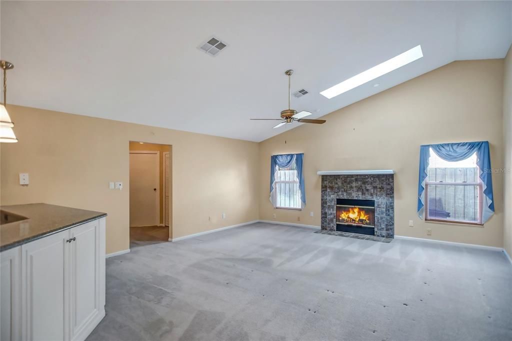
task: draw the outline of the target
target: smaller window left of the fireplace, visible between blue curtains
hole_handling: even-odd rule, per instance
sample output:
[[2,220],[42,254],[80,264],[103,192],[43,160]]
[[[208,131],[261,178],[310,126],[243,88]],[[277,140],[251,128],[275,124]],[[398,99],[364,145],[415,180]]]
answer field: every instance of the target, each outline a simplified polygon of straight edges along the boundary
[[288,168],[275,166],[275,207],[302,209],[301,189],[295,161]]

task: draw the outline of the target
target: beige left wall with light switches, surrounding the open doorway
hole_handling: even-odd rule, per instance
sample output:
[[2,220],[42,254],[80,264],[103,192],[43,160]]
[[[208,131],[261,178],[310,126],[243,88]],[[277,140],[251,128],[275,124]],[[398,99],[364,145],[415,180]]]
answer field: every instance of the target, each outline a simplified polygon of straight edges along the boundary
[[[258,219],[258,143],[23,106],[8,110],[19,142],[1,144],[2,205],[46,202],[107,212],[107,253],[129,248],[129,141],[173,146],[173,238]],[[28,187],[18,184],[22,172],[30,175]],[[122,181],[123,190],[109,189],[109,181]]]

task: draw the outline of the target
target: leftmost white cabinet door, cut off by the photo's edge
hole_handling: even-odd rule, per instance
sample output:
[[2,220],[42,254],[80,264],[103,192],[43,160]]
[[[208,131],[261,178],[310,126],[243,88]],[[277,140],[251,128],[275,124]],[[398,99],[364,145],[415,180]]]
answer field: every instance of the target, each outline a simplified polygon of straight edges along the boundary
[[0,340],[19,340],[21,335],[22,247],[0,253]]

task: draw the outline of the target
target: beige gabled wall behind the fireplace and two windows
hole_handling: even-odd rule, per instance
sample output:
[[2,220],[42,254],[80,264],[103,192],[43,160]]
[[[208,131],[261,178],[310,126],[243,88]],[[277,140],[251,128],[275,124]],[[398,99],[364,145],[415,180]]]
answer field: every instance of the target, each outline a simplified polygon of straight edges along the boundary
[[[502,115],[503,59],[456,61],[326,115],[323,125],[305,124],[265,140],[260,219],[319,226],[317,171],[394,169],[396,235],[502,247],[502,174],[493,176],[496,214],[484,227],[426,223],[416,215],[420,144],[488,140],[493,167],[502,167]],[[268,199],[270,156],[285,153],[304,153],[303,211],[274,209]]]

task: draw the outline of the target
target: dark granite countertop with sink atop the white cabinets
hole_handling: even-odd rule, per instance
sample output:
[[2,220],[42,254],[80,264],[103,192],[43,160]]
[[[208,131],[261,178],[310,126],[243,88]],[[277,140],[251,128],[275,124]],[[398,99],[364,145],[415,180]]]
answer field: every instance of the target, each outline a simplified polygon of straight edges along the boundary
[[5,213],[28,219],[0,225],[0,251],[32,242],[53,233],[106,217],[106,213],[49,204],[0,206]]

